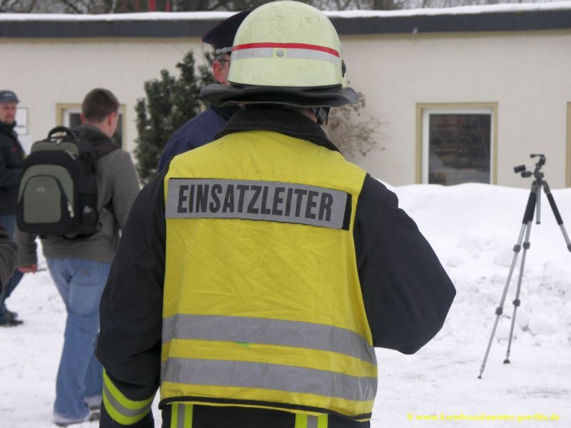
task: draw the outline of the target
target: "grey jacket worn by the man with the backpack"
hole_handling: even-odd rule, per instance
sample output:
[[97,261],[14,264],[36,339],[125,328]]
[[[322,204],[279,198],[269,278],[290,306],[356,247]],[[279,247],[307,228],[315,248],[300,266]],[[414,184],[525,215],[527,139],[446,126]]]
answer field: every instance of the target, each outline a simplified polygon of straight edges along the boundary
[[[76,128],[89,141],[108,139],[98,128],[82,125]],[[114,150],[97,161],[97,207],[99,230],[87,238],[43,238],[46,258],[79,258],[110,263],[119,240],[119,230],[127,220],[131,205],[139,191],[135,166],[129,153]],[[37,263],[36,236],[16,230],[18,267]]]

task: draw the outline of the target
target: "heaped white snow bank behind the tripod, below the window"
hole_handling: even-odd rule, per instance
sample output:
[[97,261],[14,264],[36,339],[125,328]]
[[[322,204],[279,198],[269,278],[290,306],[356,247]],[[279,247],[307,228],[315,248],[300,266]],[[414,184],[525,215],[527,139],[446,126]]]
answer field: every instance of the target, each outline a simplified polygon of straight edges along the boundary
[[[477,330],[475,334],[482,340],[490,333],[486,326],[500,305],[530,191],[482,184],[420,187],[425,190],[419,191],[415,185],[396,191],[400,204],[417,221],[458,287],[454,309],[461,307],[462,313],[453,311],[451,315],[461,318],[449,322],[445,332],[456,340],[473,340],[473,330]],[[553,195],[563,221],[567,217],[571,222],[571,189],[554,190]],[[537,215],[531,227],[520,292],[522,305],[514,334],[532,345],[550,342],[568,346],[571,253],[545,195],[540,206],[541,224],[535,220]],[[523,250],[517,255],[507,290],[497,329],[499,339],[509,335],[522,255]],[[474,327],[478,328],[466,330],[468,322],[477,323]]]

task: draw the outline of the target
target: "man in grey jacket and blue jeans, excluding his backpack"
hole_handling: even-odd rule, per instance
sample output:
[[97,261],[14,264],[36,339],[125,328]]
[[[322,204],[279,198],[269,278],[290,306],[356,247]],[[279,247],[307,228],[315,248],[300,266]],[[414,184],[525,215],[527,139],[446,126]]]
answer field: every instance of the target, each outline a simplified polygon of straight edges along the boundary
[[[56,230],[53,234],[44,231],[40,235],[51,277],[67,310],[54,404],[54,422],[60,426],[96,419],[98,413],[94,410],[101,405],[102,369],[94,356],[99,300],[118,243],[118,230],[123,229],[139,190],[131,157],[111,140],[117,128],[118,107],[113,93],[94,89],[86,95],[81,106],[83,124],[73,130],[79,141],[87,141],[95,149],[98,212],[95,233],[70,238],[69,235],[59,236]],[[29,158],[32,156],[35,156],[34,148]],[[41,159],[36,159],[35,164],[39,163]],[[25,180],[26,171],[21,187]],[[21,195],[24,192],[22,188]],[[84,206],[84,212],[87,208]],[[25,206],[22,212],[26,213]],[[25,215],[19,213],[18,266],[21,272],[36,272],[36,235],[21,232],[25,220]]]

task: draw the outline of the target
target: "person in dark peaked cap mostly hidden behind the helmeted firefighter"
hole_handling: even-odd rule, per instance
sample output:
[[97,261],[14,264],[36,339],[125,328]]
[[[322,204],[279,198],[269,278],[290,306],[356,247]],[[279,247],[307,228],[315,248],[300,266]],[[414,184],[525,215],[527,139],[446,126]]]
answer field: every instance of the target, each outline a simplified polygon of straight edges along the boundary
[[[228,70],[230,69],[230,54],[232,42],[238,26],[250,13],[241,11],[222,21],[206,33],[202,41],[214,48],[214,60],[211,70],[218,83],[228,85]],[[173,133],[168,139],[161,158],[158,160],[157,171],[161,171],[180,153],[192,150],[210,143],[214,136],[231,116],[240,110],[238,106],[209,106],[206,111],[198,113]]]

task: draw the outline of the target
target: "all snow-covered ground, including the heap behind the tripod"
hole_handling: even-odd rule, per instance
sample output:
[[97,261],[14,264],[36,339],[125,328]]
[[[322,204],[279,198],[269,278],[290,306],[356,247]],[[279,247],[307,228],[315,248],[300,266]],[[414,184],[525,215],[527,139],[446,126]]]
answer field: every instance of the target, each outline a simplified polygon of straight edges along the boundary
[[[443,330],[417,354],[378,350],[371,427],[571,427],[571,253],[545,195],[542,224],[531,228],[511,364],[502,361],[519,264],[483,379],[477,379],[529,190],[481,184],[393,190],[433,244],[458,295]],[[571,188],[553,195],[571,233]],[[26,275],[8,303],[25,323],[0,329],[0,427],[54,427],[64,305],[47,271]],[[160,426],[156,403],[153,411]]]

